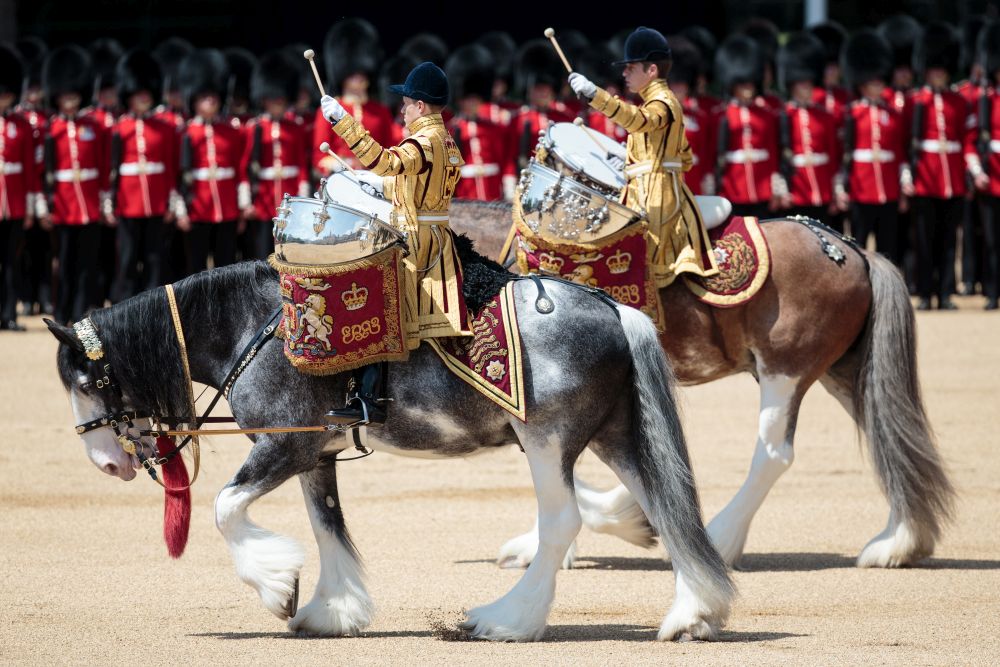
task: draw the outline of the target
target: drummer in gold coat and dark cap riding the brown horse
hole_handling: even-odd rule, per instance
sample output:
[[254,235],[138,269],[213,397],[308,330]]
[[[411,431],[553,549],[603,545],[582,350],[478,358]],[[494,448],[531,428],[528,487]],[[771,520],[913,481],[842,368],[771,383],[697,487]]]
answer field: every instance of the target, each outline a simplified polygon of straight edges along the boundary
[[666,82],[671,64],[667,39],[642,27],[629,35],[625,57],[615,63],[624,65],[626,86],[642,97],[640,106],[612,96],[582,74],[569,76],[575,93],[629,132],[621,200],[648,219],[655,244],[652,275],[661,288],[681,273],[708,277],[719,272],[698,206],[681,175],[691,169],[693,158],[683,108]]

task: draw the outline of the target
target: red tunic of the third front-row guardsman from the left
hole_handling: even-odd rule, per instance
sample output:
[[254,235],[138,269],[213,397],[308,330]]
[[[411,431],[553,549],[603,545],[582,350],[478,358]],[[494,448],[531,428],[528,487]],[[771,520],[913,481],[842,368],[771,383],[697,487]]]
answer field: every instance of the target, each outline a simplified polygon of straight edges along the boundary
[[111,128],[121,145],[116,210],[122,218],[162,217],[177,182],[180,135],[161,116],[126,114]]

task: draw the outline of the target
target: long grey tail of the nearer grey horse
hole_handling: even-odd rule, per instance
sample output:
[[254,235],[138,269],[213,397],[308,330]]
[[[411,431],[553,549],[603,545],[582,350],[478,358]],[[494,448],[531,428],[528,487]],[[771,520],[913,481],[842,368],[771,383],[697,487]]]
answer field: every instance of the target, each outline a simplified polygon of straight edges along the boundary
[[652,321],[633,308],[619,306],[618,312],[632,358],[632,433],[649,521],[670,553],[674,572],[725,621],[736,589],[702,521],[673,370]]

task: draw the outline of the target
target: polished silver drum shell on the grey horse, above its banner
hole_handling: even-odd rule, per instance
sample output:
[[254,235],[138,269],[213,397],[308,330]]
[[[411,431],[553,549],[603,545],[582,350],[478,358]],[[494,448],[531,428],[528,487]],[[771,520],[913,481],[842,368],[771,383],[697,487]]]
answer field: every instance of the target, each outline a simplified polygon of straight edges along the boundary
[[275,256],[290,264],[353,262],[405,239],[370,213],[311,197],[285,195],[273,222]]

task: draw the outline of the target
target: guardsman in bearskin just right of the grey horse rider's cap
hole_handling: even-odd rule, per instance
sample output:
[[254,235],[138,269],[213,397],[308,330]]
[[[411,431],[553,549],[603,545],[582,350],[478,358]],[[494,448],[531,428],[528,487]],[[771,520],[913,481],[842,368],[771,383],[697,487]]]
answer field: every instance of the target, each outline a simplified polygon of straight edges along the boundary
[[465,158],[455,197],[510,200],[517,179],[507,141],[509,128],[480,115],[496,78],[493,57],[478,44],[463,46],[449,56],[445,72],[458,110],[448,122],[448,131]]

